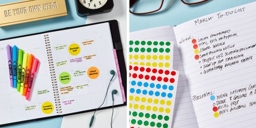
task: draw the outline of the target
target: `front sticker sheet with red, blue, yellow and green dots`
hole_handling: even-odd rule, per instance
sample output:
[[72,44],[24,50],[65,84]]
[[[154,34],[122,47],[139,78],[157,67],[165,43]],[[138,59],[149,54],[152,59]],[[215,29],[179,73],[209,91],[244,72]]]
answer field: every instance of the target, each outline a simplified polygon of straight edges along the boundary
[[130,127],[169,128],[179,71],[130,64]]

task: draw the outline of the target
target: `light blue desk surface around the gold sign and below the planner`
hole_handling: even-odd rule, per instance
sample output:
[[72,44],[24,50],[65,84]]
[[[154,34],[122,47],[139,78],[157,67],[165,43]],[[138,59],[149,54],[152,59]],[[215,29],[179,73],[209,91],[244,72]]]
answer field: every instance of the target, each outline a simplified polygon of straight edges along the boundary
[[[21,0],[0,0],[0,4],[12,3],[17,1]],[[76,14],[75,0],[65,1],[68,13],[67,16],[0,27],[0,39],[85,24],[86,17],[79,17]],[[61,128],[61,121],[62,117],[37,122],[30,122],[20,125],[13,125],[4,128]]]

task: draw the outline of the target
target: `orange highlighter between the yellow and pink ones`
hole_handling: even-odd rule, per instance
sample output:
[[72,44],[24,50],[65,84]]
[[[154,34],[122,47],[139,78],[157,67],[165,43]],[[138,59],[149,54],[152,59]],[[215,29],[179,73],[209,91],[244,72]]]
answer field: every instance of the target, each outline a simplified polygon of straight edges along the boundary
[[28,84],[29,84],[29,75],[30,75],[30,70],[32,67],[34,61],[34,55],[30,54],[29,59],[27,61],[27,70],[26,70],[26,76],[25,76],[25,82],[24,82],[24,89],[23,89],[23,96],[26,96],[26,92],[28,90]]

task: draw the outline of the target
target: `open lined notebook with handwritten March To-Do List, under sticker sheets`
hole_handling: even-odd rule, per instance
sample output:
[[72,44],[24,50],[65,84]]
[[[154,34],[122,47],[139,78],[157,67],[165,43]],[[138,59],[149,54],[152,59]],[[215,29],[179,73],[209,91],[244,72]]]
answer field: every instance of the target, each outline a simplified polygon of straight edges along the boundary
[[173,41],[180,71],[173,128],[255,128],[256,2],[175,27],[130,33],[132,41]]

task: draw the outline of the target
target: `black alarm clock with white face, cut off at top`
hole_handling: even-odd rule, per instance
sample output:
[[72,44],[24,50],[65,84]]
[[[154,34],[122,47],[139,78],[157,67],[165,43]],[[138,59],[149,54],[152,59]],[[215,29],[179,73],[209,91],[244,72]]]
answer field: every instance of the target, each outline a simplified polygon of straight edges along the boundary
[[111,12],[113,0],[75,0],[76,12],[80,17]]

